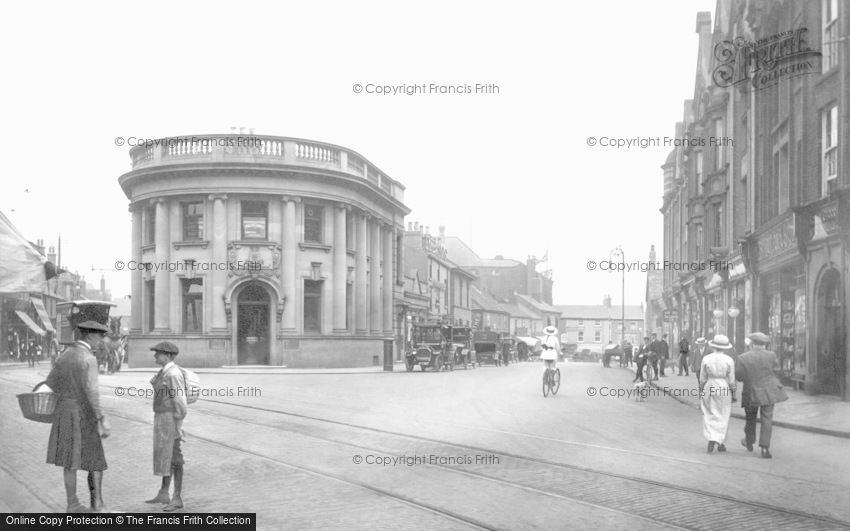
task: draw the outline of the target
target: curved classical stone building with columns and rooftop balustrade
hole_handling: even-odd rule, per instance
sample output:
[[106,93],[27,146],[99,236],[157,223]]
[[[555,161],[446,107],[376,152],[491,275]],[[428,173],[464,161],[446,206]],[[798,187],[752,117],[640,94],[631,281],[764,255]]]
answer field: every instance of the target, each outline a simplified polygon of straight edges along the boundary
[[201,135],[130,150],[130,363],[373,365],[397,336],[404,187],[349,149]]

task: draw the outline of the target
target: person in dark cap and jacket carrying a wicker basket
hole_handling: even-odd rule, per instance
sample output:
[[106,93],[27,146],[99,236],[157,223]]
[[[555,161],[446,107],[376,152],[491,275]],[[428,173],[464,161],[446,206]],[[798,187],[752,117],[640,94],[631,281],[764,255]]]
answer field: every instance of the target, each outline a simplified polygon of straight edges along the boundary
[[92,351],[109,331],[106,325],[85,321],[77,325],[77,340],[59,356],[47,385],[59,401],[47,444],[47,463],[64,469],[66,511],[88,512],[77,498],[77,471],[88,471],[91,512],[104,512],[103,471],[106,456],[101,439],[110,428],[100,408],[97,360]]

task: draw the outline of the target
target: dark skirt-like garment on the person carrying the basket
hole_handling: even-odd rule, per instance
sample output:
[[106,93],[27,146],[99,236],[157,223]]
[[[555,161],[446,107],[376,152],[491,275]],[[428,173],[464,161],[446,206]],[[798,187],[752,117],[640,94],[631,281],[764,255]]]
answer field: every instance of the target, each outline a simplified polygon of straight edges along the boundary
[[106,470],[97,420],[85,414],[76,400],[60,400],[56,406],[47,463],[71,470]]

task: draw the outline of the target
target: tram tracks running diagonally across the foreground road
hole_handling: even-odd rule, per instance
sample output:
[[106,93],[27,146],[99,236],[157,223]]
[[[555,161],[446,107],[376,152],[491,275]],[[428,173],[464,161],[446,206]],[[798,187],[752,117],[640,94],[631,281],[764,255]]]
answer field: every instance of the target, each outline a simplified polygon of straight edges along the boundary
[[[21,385],[24,384],[21,383]],[[244,414],[239,415],[235,412],[233,414],[228,414],[220,410],[204,411],[203,404],[215,405],[217,407],[226,406],[229,408],[235,408],[236,411],[252,410],[256,412],[256,414],[266,415],[267,418],[263,419],[263,422],[259,422],[257,420],[247,419]],[[198,407],[199,405],[201,405],[201,407]],[[133,422],[142,422],[147,425],[151,424],[149,420],[135,416],[128,416],[121,411],[116,411],[113,407],[106,407],[106,409],[112,415],[125,418]],[[850,529],[850,524],[848,522],[840,521],[831,517],[785,509],[754,501],[740,500],[723,494],[706,492],[699,489],[630,476],[627,474],[594,470],[568,463],[560,463],[547,459],[518,455],[502,450],[485,448],[483,446],[462,444],[437,438],[411,435],[408,433],[399,433],[301,413],[244,404],[234,404],[227,401],[205,398],[193,406],[193,415],[196,414],[215,418],[224,418],[230,421],[254,426],[256,428],[277,430],[287,434],[295,434],[301,437],[308,437],[336,445],[356,448],[358,451],[369,451],[382,455],[396,455],[398,449],[393,448],[392,443],[398,443],[399,441],[410,443],[407,445],[408,447],[424,445],[417,451],[427,451],[432,454],[451,454],[455,450],[461,450],[496,455],[506,460],[515,461],[521,466],[519,469],[511,469],[513,474],[512,477],[500,477],[499,474],[494,474],[494,470],[492,469],[460,469],[456,466],[444,466],[440,464],[426,466],[492,483],[498,483],[514,489],[521,489],[535,494],[546,495],[573,503],[587,505],[596,509],[628,514],[630,517],[638,520],[652,522],[654,524],[660,524],[672,528],[735,529],[741,525],[747,525],[748,528],[752,529]],[[282,425],[277,419],[284,417],[288,418],[289,421]],[[292,419],[301,422],[302,425],[296,425],[296,423],[292,422]],[[333,427],[335,435],[334,433],[331,433],[330,430],[316,430],[315,426],[305,426],[304,423],[314,423],[326,427]],[[215,444],[228,450],[248,454],[255,458],[269,460],[284,466],[316,474],[327,479],[357,486],[381,496],[386,496],[412,505],[420,508],[421,510],[439,514],[458,523],[463,523],[480,529],[490,528],[486,522],[483,522],[480,519],[470,518],[457,511],[446,511],[444,507],[423,503],[421,500],[413,500],[404,494],[400,494],[398,492],[394,493],[375,485],[352,480],[350,477],[343,477],[340,474],[328,474],[327,472],[287,462],[260,452],[252,451],[229,443],[223,443],[209,437],[198,436],[194,433],[191,435],[193,438],[209,444]],[[365,441],[358,441],[357,437],[365,439]],[[375,438],[390,438],[393,439],[393,441],[375,441]],[[432,447],[429,445],[436,446]],[[498,471],[500,468],[501,467],[497,467],[496,470]],[[553,472],[555,471],[563,477],[560,481],[553,483],[551,478],[545,478],[547,471],[550,476],[557,475]],[[519,474],[517,474],[517,472],[519,472]],[[519,479],[519,481],[517,481],[517,479]],[[543,480],[542,483],[541,479]],[[575,488],[562,488],[565,483],[571,484]],[[629,494],[633,492],[637,492],[638,495],[635,496]],[[611,493],[618,494],[612,496]],[[606,496],[606,494],[608,496],[607,499],[609,500],[609,503],[605,505],[598,503],[598,498],[600,496]],[[671,503],[671,500],[674,498],[678,499],[675,503]],[[657,500],[657,502],[654,503],[654,500]],[[669,508],[670,505],[687,508],[688,510],[671,511]],[[703,507],[708,508],[711,513],[701,511],[700,509]],[[699,517],[700,514],[711,514],[712,519],[706,519],[704,516]],[[756,525],[753,525],[753,523]]]

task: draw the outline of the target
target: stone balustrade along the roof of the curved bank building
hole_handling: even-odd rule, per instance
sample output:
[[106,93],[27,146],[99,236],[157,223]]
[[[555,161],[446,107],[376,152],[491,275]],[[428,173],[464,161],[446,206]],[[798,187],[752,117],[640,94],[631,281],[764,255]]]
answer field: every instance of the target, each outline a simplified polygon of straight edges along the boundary
[[403,200],[402,188],[394,187],[395,181],[359,154],[339,146],[300,139],[235,134],[164,138],[133,147],[130,161],[134,170],[204,161],[319,166],[367,180],[382,192]]

